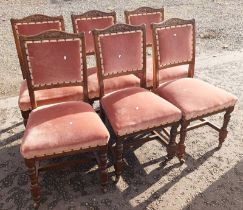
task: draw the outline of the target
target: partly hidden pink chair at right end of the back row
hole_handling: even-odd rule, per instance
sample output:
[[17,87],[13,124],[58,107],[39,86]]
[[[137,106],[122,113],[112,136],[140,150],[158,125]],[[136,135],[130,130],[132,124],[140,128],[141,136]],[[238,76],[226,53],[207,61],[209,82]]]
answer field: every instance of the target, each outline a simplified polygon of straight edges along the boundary
[[[150,8],[140,7],[132,11],[125,11],[125,19],[127,24],[140,25],[146,24],[146,43],[147,47],[151,47],[153,44],[152,39],[152,23],[160,23],[164,20],[164,8]],[[169,69],[160,72],[159,78],[160,83],[184,78],[188,76],[188,66],[181,65],[171,67]],[[147,56],[147,88],[152,89],[153,87],[153,59],[151,56]]]

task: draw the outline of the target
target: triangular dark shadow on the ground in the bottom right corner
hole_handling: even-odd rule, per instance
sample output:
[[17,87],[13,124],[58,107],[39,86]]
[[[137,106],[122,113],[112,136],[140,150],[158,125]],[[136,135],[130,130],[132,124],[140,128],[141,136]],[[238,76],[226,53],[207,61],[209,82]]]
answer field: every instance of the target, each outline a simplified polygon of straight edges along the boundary
[[243,159],[198,194],[183,210],[243,209]]

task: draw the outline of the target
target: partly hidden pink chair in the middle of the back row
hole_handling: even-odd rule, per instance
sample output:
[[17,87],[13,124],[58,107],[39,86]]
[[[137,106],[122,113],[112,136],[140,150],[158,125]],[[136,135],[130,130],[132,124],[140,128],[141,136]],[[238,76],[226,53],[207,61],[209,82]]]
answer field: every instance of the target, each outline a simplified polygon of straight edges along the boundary
[[[115,12],[102,12],[91,10],[81,15],[72,15],[74,33],[84,32],[86,40],[86,54],[95,55],[92,31],[104,29],[116,23]],[[134,75],[122,75],[119,78],[111,78],[105,81],[105,92],[118,90],[119,88],[139,86],[139,78]],[[97,78],[97,66],[88,69],[88,94],[92,101],[99,98],[99,84]]]

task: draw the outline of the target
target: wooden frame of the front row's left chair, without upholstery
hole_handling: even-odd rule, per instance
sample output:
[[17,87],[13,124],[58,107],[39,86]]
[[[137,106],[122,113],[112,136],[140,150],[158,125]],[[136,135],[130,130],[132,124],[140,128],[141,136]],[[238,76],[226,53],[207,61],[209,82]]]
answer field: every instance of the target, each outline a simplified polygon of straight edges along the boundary
[[[82,44],[82,63],[83,63],[83,81],[75,81],[75,82],[68,82],[64,81],[63,83],[55,83],[55,84],[44,84],[44,85],[33,85],[32,84],[32,77],[31,77],[31,71],[29,69],[28,65],[28,60],[27,60],[27,54],[26,54],[26,47],[25,43],[26,42],[42,42],[43,40],[74,40],[74,39],[80,39],[81,44]],[[79,34],[70,34],[62,31],[57,31],[57,30],[51,30],[47,31],[35,36],[20,36],[20,43],[21,43],[21,50],[23,53],[23,63],[26,69],[26,79],[27,79],[27,84],[29,88],[29,93],[30,93],[30,99],[31,99],[31,106],[32,109],[35,109],[37,107],[36,101],[35,101],[35,96],[34,96],[34,91],[35,90],[43,90],[43,89],[50,89],[50,88],[56,88],[56,87],[68,87],[68,86],[80,86],[83,85],[84,88],[84,101],[88,101],[87,98],[87,64],[86,64],[86,57],[85,57],[85,41],[84,41],[84,34],[79,33]],[[82,71],[82,70],[81,70]],[[82,73],[82,72],[81,72]],[[102,190],[106,191],[106,184],[108,182],[108,175],[107,175],[107,149],[108,145],[104,146],[96,146],[96,147],[89,147],[82,149],[80,148],[79,150],[71,150],[71,151],[63,151],[62,153],[54,153],[52,155],[44,155],[41,157],[34,157],[31,159],[25,159],[25,164],[28,168],[28,173],[31,181],[31,193],[32,193],[32,198],[34,200],[34,206],[37,208],[40,205],[40,190],[38,186],[38,173],[41,171],[46,171],[49,169],[57,169],[57,168],[62,168],[62,167],[69,167],[74,164],[80,164],[84,162],[88,162],[90,160],[87,159],[81,159],[81,160],[73,160],[73,161],[66,161],[63,163],[55,163],[55,164],[50,164],[47,166],[39,167],[39,162],[41,160],[45,159],[52,159],[55,157],[60,157],[60,156],[69,156],[73,154],[78,154],[78,153],[86,153],[86,152],[97,152],[99,153],[99,156],[96,156],[99,170],[100,170],[100,182],[102,185]]]

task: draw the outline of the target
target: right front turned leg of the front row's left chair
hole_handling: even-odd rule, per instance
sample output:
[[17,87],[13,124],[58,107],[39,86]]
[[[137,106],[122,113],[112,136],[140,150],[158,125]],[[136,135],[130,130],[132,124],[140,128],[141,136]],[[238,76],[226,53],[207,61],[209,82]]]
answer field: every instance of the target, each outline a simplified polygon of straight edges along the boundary
[[107,173],[107,146],[101,147],[99,150],[100,155],[100,184],[102,187],[102,191],[106,192],[106,185],[108,182],[108,173]]

